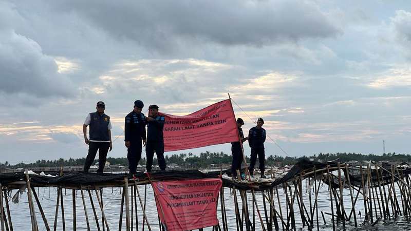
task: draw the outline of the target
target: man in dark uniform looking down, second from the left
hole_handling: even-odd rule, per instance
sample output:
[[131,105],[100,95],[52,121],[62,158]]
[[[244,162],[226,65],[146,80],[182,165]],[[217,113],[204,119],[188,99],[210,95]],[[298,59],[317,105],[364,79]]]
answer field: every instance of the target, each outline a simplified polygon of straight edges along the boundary
[[127,147],[128,168],[130,174],[137,172],[137,165],[141,159],[141,149],[145,146],[147,138],[145,137],[145,118],[141,112],[144,104],[140,100],[134,102],[134,110],[128,113],[124,123],[124,141]]

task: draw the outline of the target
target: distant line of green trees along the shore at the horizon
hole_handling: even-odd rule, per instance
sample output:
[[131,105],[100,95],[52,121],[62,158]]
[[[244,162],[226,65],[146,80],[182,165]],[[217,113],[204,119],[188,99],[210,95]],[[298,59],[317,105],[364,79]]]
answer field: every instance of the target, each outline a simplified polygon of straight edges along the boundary
[[[409,154],[396,154],[395,152],[391,153],[384,153],[383,155],[375,155],[375,154],[368,154],[363,155],[361,153],[346,153],[346,152],[337,152],[337,153],[322,153],[320,152],[318,155],[312,156],[302,156],[302,157],[282,157],[277,155],[266,155],[265,164],[266,166],[285,166],[285,165],[293,165],[297,161],[302,159],[311,159],[313,161],[331,161],[335,159],[339,159],[339,162],[346,163],[349,161],[386,161],[386,162],[411,162],[411,155]],[[60,158],[58,160],[38,160],[35,163],[18,163],[15,165],[11,165],[8,161],[1,163],[0,168],[30,168],[30,167],[60,167],[60,166],[82,166],[84,165],[85,158],[73,159],[69,158],[65,160]],[[201,152],[198,156],[195,156],[192,152],[189,153],[180,153],[180,154],[172,154],[171,156],[165,156],[165,161],[167,164],[178,164],[179,166],[184,167],[192,167],[192,168],[204,168],[209,167],[210,165],[219,165],[219,164],[231,164],[232,156],[231,154],[227,154],[224,152]],[[250,163],[249,156],[246,155],[247,163]],[[98,160],[95,160],[97,163]],[[113,158],[107,157],[107,162],[110,165],[121,165],[121,166],[128,166],[127,158]],[[258,162],[258,159],[257,159]],[[141,159],[139,164],[145,165],[145,158]],[[158,165],[158,161],[155,158],[153,161],[154,165]]]

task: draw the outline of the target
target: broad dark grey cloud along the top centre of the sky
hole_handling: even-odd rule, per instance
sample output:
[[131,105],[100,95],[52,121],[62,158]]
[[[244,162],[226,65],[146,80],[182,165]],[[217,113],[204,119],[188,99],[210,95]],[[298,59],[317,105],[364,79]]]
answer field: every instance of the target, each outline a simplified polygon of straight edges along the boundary
[[60,1],[49,4],[59,11],[75,12],[120,40],[133,40],[159,51],[207,42],[266,46],[340,33],[318,5],[299,0]]

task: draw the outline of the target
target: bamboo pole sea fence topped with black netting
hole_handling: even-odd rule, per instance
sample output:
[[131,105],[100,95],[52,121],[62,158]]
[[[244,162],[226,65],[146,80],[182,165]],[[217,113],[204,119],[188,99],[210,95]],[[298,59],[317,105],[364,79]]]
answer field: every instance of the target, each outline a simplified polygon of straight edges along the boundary
[[[244,173],[244,169],[243,169]],[[0,174],[0,218],[1,230],[13,231],[13,216],[15,211],[10,209],[10,190],[27,190],[31,228],[39,230],[39,224],[47,230],[77,230],[76,216],[85,216],[87,230],[110,230],[113,223],[105,217],[102,202],[103,188],[120,187],[122,199],[119,204],[118,229],[121,230],[125,222],[126,230],[152,230],[144,205],[145,196],[142,198],[138,186],[152,185],[158,182],[221,179],[222,187],[216,195],[215,206],[218,208],[218,223],[212,230],[320,230],[324,224],[332,228],[346,226],[375,226],[379,221],[396,219],[399,216],[411,216],[411,168],[389,164],[368,162],[364,166],[351,166],[345,163],[326,162],[318,163],[300,161],[296,163],[284,176],[275,176],[269,170],[267,177],[272,180],[251,179],[245,172],[245,180],[234,180],[229,171],[215,171],[203,174],[198,170],[187,171],[158,171],[147,175],[138,172],[128,174],[96,174],[81,171],[70,171],[57,177],[39,176],[25,172]],[[228,178],[231,176],[231,178]],[[238,178],[241,172],[237,172]],[[159,184],[157,184],[159,185]],[[47,218],[36,189],[39,187],[54,187],[57,189],[54,220]],[[327,207],[319,206],[319,192],[329,198]],[[67,205],[63,202],[63,189],[72,190],[72,202]],[[232,194],[231,201],[225,197],[227,190]],[[344,193],[343,193],[344,192]],[[75,195],[81,194],[80,197]],[[92,197],[92,194],[94,197]],[[131,195],[129,195],[131,194]],[[145,195],[145,194],[144,194]],[[87,210],[86,197],[89,197],[91,210]],[[130,197],[131,196],[131,197]],[[157,197],[154,193],[154,197]],[[158,198],[154,198],[158,201]],[[179,197],[184,200],[184,197]],[[78,201],[79,200],[79,201]],[[76,212],[76,203],[82,203],[84,211]],[[234,205],[233,210],[227,210],[227,205]],[[214,204],[213,204],[214,205]],[[158,209],[159,208],[159,209]],[[65,218],[65,211],[73,210],[70,218]],[[156,209],[156,208],[150,208]],[[157,206],[158,214],[164,216],[161,206]],[[99,224],[96,211],[102,217]],[[125,211],[124,211],[125,210]],[[60,211],[60,213],[59,213]],[[132,215],[130,215],[132,211]],[[135,214],[142,213],[142,221],[134,221]],[[234,213],[234,214],[228,214]],[[41,217],[39,217],[41,214]],[[235,217],[235,225],[230,223],[228,217]],[[124,219],[125,218],[125,219]],[[65,221],[70,219],[72,226],[66,227]],[[201,217],[199,218],[201,219]],[[96,225],[91,223],[96,221]],[[296,222],[296,221],[301,221]],[[30,222],[27,221],[27,222]],[[159,222],[157,230],[164,230],[164,225]],[[298,225],[298,226],[297,226]],[[62,228],[60,228],[60,226]],[[117,226],[117,224],[116,224]],[[331,226],[330,226],[331,227]],[[202,230],[203,228],[199,228]],[[172,230],[168,228],[168,230]]]

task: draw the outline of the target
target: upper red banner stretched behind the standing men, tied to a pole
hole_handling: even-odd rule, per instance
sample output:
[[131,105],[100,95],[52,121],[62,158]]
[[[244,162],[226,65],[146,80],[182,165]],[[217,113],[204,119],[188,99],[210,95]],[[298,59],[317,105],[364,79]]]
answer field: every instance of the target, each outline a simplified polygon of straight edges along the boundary
[[165,117],[164,151],[198,148],[239,140],[230,100],[215,103],[189,115],[161,114]]

